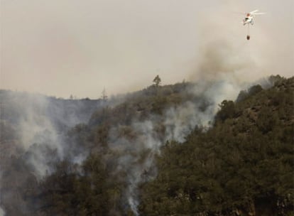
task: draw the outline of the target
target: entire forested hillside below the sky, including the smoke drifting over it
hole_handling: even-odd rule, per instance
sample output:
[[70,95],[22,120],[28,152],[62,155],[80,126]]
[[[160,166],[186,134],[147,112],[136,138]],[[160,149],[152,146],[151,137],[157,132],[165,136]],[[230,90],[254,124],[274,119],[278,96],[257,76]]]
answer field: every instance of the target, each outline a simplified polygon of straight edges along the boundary
[[1,91],[3,212],[294,215],[294,77],[222,102],[219,83],[157,81],[107,102]]

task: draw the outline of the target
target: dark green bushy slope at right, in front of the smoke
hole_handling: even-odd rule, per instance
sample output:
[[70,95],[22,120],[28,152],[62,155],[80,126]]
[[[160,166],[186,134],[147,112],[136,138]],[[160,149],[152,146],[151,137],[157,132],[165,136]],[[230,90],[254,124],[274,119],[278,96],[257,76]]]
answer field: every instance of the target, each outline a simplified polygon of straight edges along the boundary
[[214,126],[168,142],[141,215],[293,215],[294,78],[224,101]]

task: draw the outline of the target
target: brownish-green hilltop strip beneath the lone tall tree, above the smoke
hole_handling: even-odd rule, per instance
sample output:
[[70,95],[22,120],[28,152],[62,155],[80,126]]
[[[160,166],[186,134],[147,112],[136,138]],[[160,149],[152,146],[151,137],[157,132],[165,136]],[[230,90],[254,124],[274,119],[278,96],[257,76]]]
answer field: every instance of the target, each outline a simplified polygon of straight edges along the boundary
[[[150,86],[140,92],[126,96],[124,102],[115,107],[103,107],[92,114],[89,126],[94,133],[107,125],[130,125],[134,119],[144,121],[153,114],[163,114],[165,109],[195,99],[187,90],[190,83],[167,86]],[[103,125],[103,126],[102,126]],[[98,132],[99,134],[99,132]],[[94,135],[93,135],[94,136]],[[95,142],[99,144],[100,141]]]

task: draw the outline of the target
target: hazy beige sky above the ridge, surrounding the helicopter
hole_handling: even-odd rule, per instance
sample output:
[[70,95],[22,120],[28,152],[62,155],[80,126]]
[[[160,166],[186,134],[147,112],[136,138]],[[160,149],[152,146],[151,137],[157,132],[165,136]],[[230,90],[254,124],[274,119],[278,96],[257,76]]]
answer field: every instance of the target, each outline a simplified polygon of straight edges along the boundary
[[[0,88],[97,98],[225,70],[293,75],[293,0],[0,0]],[[259,9],[246,41],[239,12]]]

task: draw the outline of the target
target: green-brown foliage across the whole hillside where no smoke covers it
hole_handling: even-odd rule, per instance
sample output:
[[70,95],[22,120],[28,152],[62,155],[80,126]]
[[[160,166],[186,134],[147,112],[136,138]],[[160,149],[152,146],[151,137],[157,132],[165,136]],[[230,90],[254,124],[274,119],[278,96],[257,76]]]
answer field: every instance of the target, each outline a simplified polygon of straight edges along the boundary
[[[294,78],[271,77],[270,81],[275,85],[268,90],[256,85],[240,92],[236,102],[219,104],[212,128],[196,128],[185,143],[169,141],[162,147],[156,156],[156,178],[146,178],[138,188],[140,215],[294,214]],[[126,96],[116,106],[100,107],[89,124],[78,124],[67,133],[70,147],[91,152],[82,166],[58,161],[39,183],[25,157],[9,155],[1,195],[13,198],[20,207],[13,209],[7,200],[1,202],[7,214],[134,215],[124,200],[128,173],[117,169],[117,158],[124,152],[109,149],[111,128],[116,126],[118,138],[136,140],[132,121],[156,115],[154,131],[164,137],[160,121],[165,110],[200,99],[189,93],[190,85],[158,83]],[[200,109],[207,105],[203,102]],[[7,108],[5,112],[9,117],[16,115]],[[15,128],[6,119],[0,124],[4,132],[1,149],[5,150],[13,146]],[[18,151],[15,154],[21,155]],[[49,153],[54,156],[56,150]],[[150,151],[136,156],[140,165]],[[11,176],[19,178],[11,180]],[[14,192],[7,193],[9,188]],[[25,204],[31,211],[21,209]]]

